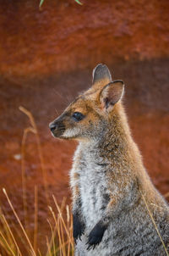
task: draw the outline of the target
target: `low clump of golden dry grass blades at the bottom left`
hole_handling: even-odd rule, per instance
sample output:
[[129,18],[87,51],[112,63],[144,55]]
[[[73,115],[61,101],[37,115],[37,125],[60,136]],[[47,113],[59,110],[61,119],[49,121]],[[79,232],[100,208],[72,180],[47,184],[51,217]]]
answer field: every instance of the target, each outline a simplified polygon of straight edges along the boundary
[[[16,213],[14,209],[14,205],[11,203],[10,198],[8,197],[8,193],[3,188],[3,193],[8,200],[8,204],[10,209],[12,209],[15,219],[18,222],[18,225],[15,225],[15,229],[17,229],[17,235],[11,229],[11,224],[8,223],[5,214],[3,214],[2,209],[0,209],[0,255],[13,255],[13,256],[70,256],[74,255],[74,239],[72,236],[73,230],[73,218],[70,214],[70,209],[68,205],[63,203],[62,207],[58,206],[57,200],[54,196],[52,196],[56,209],[52,209],[51,206],[48,206],[52,218],[54,221],[54,225],[50,220],[47,220],[50,229],[51,236],[46,237],[46,253],[42,254],[41,250],[37,248],[37,233],[38,233],[38,220],[37,220],[37,196],[35,196],[35,229],[34,229],[34,239],[31,242],[31,239],[25,230],[25,225],[21,223],[19,220],[19,215]],[[37,193],[37,189],[35,189],[35,193]],[[63,211],[66,210],[66,218],[63,217]],[[17,237],[17,238],[16,238]],[[18,242],[18,237],[22,237],[22,242]],[[22,249],[21,247],[22,243]],[[23,247],[24,245],[24,247]]]

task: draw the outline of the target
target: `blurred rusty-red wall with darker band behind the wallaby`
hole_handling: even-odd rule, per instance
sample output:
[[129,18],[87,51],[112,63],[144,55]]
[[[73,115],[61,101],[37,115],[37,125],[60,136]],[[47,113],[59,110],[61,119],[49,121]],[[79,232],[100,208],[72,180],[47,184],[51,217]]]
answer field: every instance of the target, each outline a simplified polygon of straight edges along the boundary
[[[91,85],[96,64],[125,82],[134,139],[155,186],[166,199],[169,192],[169,2],[81,3],[45,0],[39,8],[37,0],[0,1],[0,208],[15,221],[4,187],[24,221],[25,197],[31,237],[36,191],[41,251],[52,194],[70,203],[68,170],[76,147],[54,139],[48,124]],[[34,117],[34,130],[19,106]]]

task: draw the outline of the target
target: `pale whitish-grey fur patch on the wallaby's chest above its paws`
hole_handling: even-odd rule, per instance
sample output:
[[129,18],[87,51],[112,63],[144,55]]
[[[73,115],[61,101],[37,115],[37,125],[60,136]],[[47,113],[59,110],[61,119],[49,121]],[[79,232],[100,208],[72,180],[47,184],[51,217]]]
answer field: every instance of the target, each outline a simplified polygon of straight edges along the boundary
[[106,166],[99,164],[99,159],[91,157],[82,159],[79,167],[82,214],[90,227],[100,220],[109,200]]

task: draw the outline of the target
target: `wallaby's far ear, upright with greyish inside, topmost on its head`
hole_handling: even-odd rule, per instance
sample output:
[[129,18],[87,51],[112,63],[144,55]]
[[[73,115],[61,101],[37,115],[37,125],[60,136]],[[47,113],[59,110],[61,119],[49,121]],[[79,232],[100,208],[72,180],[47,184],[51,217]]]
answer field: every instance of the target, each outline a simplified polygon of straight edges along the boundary
[[101,81],[106,81],[106,84],[112,81],[111,73],[105,64],[98,64],[93,70],[93,85]]

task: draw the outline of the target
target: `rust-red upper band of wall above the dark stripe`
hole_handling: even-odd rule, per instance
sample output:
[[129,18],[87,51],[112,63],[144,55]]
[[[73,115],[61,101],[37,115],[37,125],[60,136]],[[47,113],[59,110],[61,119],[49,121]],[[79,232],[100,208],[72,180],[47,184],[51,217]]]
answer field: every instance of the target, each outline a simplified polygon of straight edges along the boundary
[[0,72],[41,75],[169,55],[167,0],[0,3]]

